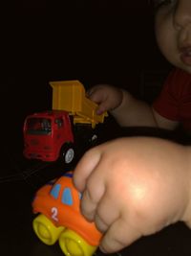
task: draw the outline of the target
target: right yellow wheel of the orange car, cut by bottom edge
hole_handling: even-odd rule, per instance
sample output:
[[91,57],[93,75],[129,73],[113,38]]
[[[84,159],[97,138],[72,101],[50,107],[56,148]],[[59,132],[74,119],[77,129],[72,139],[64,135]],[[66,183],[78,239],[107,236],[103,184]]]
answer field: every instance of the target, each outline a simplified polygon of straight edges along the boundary
[[92,256],[96,251],[96,246],[88,244],[70,229],[61,233],[59,245],[66,256]]

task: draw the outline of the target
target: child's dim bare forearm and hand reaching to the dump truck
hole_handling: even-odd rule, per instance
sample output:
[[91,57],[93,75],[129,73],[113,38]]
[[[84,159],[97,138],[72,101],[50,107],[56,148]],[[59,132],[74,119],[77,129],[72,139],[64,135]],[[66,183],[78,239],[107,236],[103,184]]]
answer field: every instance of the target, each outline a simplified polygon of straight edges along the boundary
[[97,113],[110,111],[122,127],[159,127],[174,129],[177,122],[161,117],[151,105],[134,98],[128,91],[108,84],[91,88],[88,97],[98,104]]

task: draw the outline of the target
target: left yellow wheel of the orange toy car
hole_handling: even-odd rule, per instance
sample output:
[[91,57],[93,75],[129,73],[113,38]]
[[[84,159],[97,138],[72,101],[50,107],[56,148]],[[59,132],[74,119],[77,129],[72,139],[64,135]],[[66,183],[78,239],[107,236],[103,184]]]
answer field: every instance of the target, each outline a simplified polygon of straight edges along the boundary
[[48,245],[54,244],[64,230],[63,226],[56,227],[52,221],[46,216],[40,214],[32,222],[33,230],[36,236],[44,243]]

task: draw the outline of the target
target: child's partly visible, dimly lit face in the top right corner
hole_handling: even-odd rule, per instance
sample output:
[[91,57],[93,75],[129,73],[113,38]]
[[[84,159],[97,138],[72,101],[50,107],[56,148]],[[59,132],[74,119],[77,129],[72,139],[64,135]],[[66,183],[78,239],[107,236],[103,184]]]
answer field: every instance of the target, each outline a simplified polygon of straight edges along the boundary
[[191,0],[154,0],[156,36],[161,53],[191,74]]

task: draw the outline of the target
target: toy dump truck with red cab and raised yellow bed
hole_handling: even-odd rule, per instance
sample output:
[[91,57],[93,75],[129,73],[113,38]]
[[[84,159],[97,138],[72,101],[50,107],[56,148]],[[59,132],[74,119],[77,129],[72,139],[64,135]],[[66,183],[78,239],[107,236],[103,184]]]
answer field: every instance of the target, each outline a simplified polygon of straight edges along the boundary
[[[87,140],[94,141],[96,124],[107,113],[96,114],[97,105],[85,96],[80,81],[52,81],[53,110],[34,113],[24,122],[24,155],[29,159],[65,163],[74,160],[77,130],[83,129]],[[79,137],[79,136],[78,136]]]

